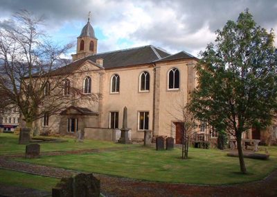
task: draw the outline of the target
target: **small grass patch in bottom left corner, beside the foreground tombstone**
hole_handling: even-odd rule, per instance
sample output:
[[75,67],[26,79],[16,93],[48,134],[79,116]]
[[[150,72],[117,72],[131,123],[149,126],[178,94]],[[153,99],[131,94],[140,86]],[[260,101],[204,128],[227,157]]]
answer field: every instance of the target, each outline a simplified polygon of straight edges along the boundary
[[0,182],[5,185],[28,187],[44,191],[51,191],[60,179],[49,178],[41,175],[31,175],[17,171],[0,169]]

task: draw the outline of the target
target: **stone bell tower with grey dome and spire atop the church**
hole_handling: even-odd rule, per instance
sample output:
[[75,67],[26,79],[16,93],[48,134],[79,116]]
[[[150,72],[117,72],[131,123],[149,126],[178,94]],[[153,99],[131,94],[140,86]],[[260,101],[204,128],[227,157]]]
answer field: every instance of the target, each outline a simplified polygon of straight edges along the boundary
[[87,24],[82,28],[79,37],[77,37],[76,54],[71,55],[73,61],[97,53],[97,38],[95,37],[93,27],[89,22],[90,13],[91,12],[89,12]]

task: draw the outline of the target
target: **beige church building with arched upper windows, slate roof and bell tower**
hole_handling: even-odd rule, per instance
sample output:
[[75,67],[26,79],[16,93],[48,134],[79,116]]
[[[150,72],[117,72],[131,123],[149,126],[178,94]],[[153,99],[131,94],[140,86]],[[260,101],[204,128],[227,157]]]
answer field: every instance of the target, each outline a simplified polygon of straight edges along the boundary
[[98,53],[97,47],[88,19],[77,38],[73,62],[53,74],[68,76],[64,96],[70,96],[72,87],[99,96],[74,101],[60,114],[40,119],[41,130],[60,135],[84,130],[87,136],[98,132],[99,137],[99,132],[122,127],[126,106],[133,141],[143,139],[144,130],[151,130],[153,135],[174,137],[181,143],[180,110],[196,87],[193,68],[197,58],[185,51],[170,54],[152,45],[105,53]]

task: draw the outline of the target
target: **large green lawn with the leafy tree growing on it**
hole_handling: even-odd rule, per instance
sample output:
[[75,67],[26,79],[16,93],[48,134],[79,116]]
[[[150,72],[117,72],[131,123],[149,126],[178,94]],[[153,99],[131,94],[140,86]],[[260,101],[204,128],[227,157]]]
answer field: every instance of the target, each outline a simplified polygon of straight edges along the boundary
[[225,185],[265,178],[277,168],[277,147],[269,147],[270,159],[245,159],[247,175],[238,173],[238,157],[227,157],[215,149],[189,148],[189,159],[181,160],[181,150],[155,151],[154,148],[87,153],[82,155],[45,156],[23,162],[57,166],[93,173],[103,173],[139,180]]

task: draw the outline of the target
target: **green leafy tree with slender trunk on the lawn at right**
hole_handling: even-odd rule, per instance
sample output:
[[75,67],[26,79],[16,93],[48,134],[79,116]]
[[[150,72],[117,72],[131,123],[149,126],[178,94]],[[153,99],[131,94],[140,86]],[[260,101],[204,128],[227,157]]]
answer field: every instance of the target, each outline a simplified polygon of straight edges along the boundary
[[274,33],[257,26],[249,10],[216,31],[197,65],[198,87],[190,110],[238,143],[240,171],[246,173],[242,133],[269,126],[276,112],[277,72]]

